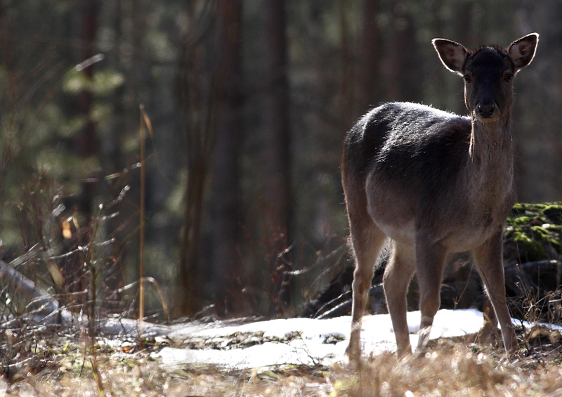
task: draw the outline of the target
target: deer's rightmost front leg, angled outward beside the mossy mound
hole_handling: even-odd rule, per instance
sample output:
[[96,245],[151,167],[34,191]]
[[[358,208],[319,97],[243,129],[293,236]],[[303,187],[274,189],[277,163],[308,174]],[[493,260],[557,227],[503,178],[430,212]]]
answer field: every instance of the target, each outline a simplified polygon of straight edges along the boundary
[[502,227],[483,245],[473,250],[474,261],[480,271],[490,302],[494,306],[508,356],[518,350],[517,337],[505,297]]

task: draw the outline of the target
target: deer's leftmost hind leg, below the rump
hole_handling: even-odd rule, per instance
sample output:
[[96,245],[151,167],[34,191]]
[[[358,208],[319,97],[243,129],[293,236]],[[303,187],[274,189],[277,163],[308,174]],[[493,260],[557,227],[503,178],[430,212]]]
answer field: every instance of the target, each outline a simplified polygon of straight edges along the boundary
[[353,207],[348,205],[348,217],[355,272],[353,273],[352,285],[351,334],[346,356],[351,363],[356,364],[360,358],[361,318],[365,314],[374,266],[386,236],[375,225],[366,210],[355,211]]

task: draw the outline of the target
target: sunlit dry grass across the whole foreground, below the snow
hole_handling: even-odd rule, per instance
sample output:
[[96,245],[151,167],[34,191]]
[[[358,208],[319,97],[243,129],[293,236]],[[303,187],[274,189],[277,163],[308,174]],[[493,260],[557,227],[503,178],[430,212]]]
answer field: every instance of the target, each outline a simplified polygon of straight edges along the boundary
[[[164,340],[164,339],[162,339]],[[80,337],[22,344],[27,357],[0,379],[7,396],[562,396],[561,346],[527,351],[507,360],[502,351],[443,339],[426,352],[398,358],[365,358],[359,370],[286,366],[234,370],[181,365],[164,367],[150,356],[165,341],[139,350],[136,341],[96,344],[96,382]],[[4,347],[4,346],[3,346]],[[25,357],[22,352],[21,357]],[[42,360],[41,365],[37,365]],[[33,364],[35,363],[35,365]],[[98,391],[98,385],[102,385]]]

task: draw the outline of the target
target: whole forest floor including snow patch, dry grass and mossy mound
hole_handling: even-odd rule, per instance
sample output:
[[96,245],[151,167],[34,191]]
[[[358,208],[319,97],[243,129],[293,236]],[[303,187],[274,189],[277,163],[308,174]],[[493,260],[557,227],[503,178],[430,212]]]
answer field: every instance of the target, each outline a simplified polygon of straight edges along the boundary
[[[536,315],[535,320],[557,324],[562,313],[561,239],[562,203],[514,207],[505,249],[515,253],[517,263],[542,263],[530,267],[542,273],[525,278],[529,290],[536,293],[523,297],[525,313],[539,313],[542,308],[551,315]],[[543,272],[549,269],[554,270]],[[410,315],[415,346],[419,313]],[[393,353],[390,321],[384,316],[364,318],[365,357],[353,371],[342,365],[348,316],[155,325],[159,331],[143,338],[131,328],[127,337],[101,337],[103,332],[91,336],[80,323],[62,328],[25,321],[10,327],[0,324],[0,397],[562,397],[559,327],[516,320],[521,352],[508,360],[497,341],[493,346],[476,343],[482,313],[439,311],[429,349],[399,359]]]

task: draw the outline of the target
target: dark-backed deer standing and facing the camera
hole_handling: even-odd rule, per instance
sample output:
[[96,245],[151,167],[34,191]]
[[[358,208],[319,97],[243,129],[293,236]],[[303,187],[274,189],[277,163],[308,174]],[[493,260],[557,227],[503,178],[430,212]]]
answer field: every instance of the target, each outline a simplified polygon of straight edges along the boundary
[[464,80],[469,117],[417,103],[384,103],[344,140],[341,178],[355,270],[346,361],[359,363],[361,319],[377,258],[390,259],[383,287],[399,356],[412,353],[406,294],[417,274],[424,351],[440,306],[447,256],[471,252],[495,311],[508,358],[518,341],[507,307],[503,229],[516,202],[511,153],[513,80],[535,56],[539,35],[507,48],[433,39],[438,57]]

